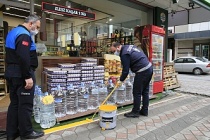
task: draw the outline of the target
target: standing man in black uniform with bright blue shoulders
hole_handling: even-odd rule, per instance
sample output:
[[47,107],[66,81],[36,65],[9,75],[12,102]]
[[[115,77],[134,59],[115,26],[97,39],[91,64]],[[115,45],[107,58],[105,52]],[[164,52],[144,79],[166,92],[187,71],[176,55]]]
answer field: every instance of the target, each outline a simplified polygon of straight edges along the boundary
[[40,29],[40,18],[28,16],[6,38],[5,78],[9,84],[10,105],[7,113],[7,140],[18,136],[35,139],[44,135],[32,128],[31,116],[35,87],[34,71],[38,67],[36,46],[32,39]]

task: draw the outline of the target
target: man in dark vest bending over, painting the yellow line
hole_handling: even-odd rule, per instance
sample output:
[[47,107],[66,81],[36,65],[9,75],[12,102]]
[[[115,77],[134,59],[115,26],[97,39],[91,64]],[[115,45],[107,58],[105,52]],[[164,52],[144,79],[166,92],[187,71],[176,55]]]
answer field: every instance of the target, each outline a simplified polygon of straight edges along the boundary
[[[133,109],[131,112],[124,114],[125,117],[139,117],[139,115],[148,116],[149,106],[149,83],[152,78],[153,69],[147,56],[138,50],[136,46],[113,43],[111,51],[120,53],[121,63],[123,65],[120,81],[123,82],[128,76],[129,69],[135,73],[133,84]],[[140,109],[142,100],[142,107]]]

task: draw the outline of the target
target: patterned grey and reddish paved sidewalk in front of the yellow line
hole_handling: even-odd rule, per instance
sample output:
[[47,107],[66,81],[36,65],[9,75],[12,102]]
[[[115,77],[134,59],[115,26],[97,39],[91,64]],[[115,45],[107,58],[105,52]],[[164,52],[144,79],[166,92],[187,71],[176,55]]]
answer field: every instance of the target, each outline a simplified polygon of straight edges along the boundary
[[45,135],[40,140],[210,140],[210,98],[181,94],[150,105],[148,117],[118,115],[117,127],[98,122]]

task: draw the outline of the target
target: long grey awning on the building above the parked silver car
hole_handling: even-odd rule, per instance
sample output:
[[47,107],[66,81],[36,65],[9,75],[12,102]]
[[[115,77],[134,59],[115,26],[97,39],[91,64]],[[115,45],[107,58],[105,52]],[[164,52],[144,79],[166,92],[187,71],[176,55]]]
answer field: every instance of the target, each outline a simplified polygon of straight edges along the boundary
[[187,32],[178,33],[174,35],[175,40],[188,40],[188,39],[199,39],[199,38],[209,38],[210,31],[198,31],[198,32]]

